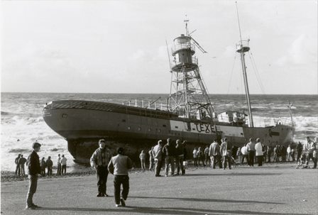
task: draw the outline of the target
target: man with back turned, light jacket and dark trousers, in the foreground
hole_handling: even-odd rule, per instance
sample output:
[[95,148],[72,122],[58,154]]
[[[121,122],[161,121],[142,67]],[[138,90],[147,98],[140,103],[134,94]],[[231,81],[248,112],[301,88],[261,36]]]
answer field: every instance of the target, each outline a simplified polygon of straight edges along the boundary
[[[124,155],[124,148],[117,148],[118,155],[111,158],[108,170],[114,175],[114,198],[116,206],[126,206],[126,199],[129,192],[128,170],[133,167],[133,162]],[[121,192],[121,184],[123,191]]]

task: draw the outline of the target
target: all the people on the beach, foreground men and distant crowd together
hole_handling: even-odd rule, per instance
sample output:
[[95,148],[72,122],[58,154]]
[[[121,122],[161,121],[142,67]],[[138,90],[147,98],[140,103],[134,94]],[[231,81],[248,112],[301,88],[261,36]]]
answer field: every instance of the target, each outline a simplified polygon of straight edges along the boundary
[[[306,138],[304,144],[298,143],[296,148],[292,145],[288,145],[287,148],[283,145],[276,145],[271,150],[270,145],[263,145],[260,138],[249,139],[242,148],[235,148],[233,143],[228,142],[227,138],[221,140],[221,144],[214,140],[211,145],[206,145],[206,148],[202,150],[201,147],[194,148],[192,155],[194,160],[194,166],[205,166],[209,162],[212,169],[215,169],[216,165],[219,168],[226,167],[231,169],[232,165],[236,165],[236,156],[238,162],[243,165],[244,160],[251,167],[254,165],[254,161],[258,163],[258,166],[262,166],[263,162],[270,162],[271,154],[274,153],[273,162],[292,159],[295,161],[295,152],[297,153],[297,162],[302,160],[305,165],[309,165],[309,161],[314,162],[313,168],[317,167],[317,138],[314,141],[309,137]],[[45,158],[38,157],[40,151],[40,143],[33,143],[33,151],[28,156],[28,160],[23,158],[23,155],[18,155],[16,158],[16,174],[24,175],[24,164],[28,165],[28,179],[29,187],[26,199],[26,209],[37,209],[40,206],[33,204],[33,194],[36,192],[38,175],[45,175],[45,167],[48,168],[48,175],[52,174],[53,161],[45,161]],[[128,170],[133,167],[133,162],[128,156],[124,155],[124,148],[116,149],[116,156],[111,154],[109,148],[106,147],[106,141],[104,139],[99,140],[99,148],[94,151],[90,158],[90,165],[96,170],[97,174],[97,197],[108,197],[106,194],[106,182],[109,172],[114,175],[114,200],[115,206],[126,206],[126,199],[129,192],[129,177]],[[155,172],[155,177],[160,177],[161,167],[163,162],[165,164],[164,173],[165,177],[168,175],[185,175],[185,163],[187,161],[187,149],[186,141],[176,140],[172,142],[170,138],[163,144],[163,140],[158,140],[157,145],[153,146],[149,151],[149,170]],[[141,151],[139,158],[141,160],[141,169],[146,170],[146,157],[145,150]],[[66,173],[66,158],[62,155],[58,155],[57,158],[57,175]],[[185,162],[184,162],[185,161]],[[175,170],[177,169],[177,170]],[[121,187],[123,188],[121,191]]]

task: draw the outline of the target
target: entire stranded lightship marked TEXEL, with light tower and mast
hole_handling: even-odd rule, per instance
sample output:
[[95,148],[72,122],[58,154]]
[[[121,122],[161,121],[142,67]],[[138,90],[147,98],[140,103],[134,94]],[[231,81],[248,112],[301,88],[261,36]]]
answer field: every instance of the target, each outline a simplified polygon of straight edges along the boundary
[[248,138],[261,138],[265,145],[292,141],[293,126],[253,125],[244,59],[244,53],[250,50],[247,40],[239,41],[236,52],[241,55],[248,115],[243,111],[214,111],[194,55],[196,48],[205,51],[190,35],[187,21],[185,26],[186,33],[174,40],[170,97],[160,109],[151,108],[151,103],[131,105],[83,100],[50,101],[44,107],[44,121],[67,140],[75,162],[88,163],[100,138],[110,148],[124,146],[126,153],[136,160],[141,149],[150,149],[158,140],[166,138],[187,140],[191,150],[194,145],[207,145],[225,137],[237,147],[247,143]]

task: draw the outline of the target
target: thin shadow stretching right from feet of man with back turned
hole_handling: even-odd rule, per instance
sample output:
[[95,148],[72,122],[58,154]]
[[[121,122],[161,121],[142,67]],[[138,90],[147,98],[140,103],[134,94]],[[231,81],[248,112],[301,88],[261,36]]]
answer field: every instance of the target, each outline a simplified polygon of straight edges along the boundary
[[198,198],[173,198],[173,197],[129,197],[131,199],[171,199],[188,202],[224,202],[224,203],[251,203],[251,204],[285,204],[279,202],[260,202],[253,200],[231,200],[231,199],[198,199]]

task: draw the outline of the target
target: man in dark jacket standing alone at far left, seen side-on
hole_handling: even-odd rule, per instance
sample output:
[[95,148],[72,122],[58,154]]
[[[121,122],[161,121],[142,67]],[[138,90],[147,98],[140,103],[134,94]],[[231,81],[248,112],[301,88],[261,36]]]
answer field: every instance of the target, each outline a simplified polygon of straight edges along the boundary
[[38,185],[38,175],[41,174],[40,158],[38,152],[40,151],[40,143],[33,143],[33,151],[28,156],[28,194],[26,196],[26,209],[36,209],[40,206],[33,204],[33,194],[36,192]]

